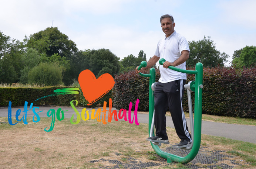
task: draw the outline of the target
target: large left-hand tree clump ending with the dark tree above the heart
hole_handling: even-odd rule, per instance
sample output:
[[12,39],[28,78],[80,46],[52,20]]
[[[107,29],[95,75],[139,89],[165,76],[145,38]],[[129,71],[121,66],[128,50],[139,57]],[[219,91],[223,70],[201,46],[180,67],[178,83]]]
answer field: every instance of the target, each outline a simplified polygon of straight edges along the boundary
[[[0,83],[67,86],[78,79],[82,70],[90,69],[97,77],[104,73],[114,76],[121,66],[109,49],[78,50],[57,27],[25,37],[23,42],[0,32],[0,57]],[[47,76],[51,78],[47,80]]]

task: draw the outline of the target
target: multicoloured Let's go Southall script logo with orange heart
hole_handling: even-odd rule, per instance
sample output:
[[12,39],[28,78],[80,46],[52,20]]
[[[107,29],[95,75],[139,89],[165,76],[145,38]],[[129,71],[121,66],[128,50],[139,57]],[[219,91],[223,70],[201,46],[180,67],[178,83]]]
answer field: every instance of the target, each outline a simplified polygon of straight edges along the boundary
[[[89,104],[87,104],[87,105],[91,105],[95,101],[99,100],[101,97],[103,97],[105,94],[107,94],[114,87],[114,84],[115,84],[115,81],[110,74],[105,73],[105,74],[101,75],[98,79],[96,79],[96,77],[90,70],[82,71],[79,74],[78,82],[80,84],[80,87],[81,87],[81,90],[83,92],[85,99],[89,102]],[[50,94],[48,96],[44,96],[39,99],[43,99],[45,97],[50,97],[50,96],[58,96],[60,94],[78,94],[78,92],[74,91],[74,90],[79,90],[79,88],[68,88],[68,89],[54,90],[54,94]],[[37,100],[39,100],[39,99],[37,99]],[[96,114],[95,114],[94,109],[86,110],[86,108],[83,108],[82,112],[81,112],[81,116],[80,116],[80,113],[75,108],[73,101],[76,102],[75,106],[77,106],[77,104],[78,104],[77,100],[70,101],[70,105],[73,108],[73,110],[75,111],[75,114],[73,114],[70,119],[71,124],[78,124],[81,121],[81,118],[82,118],[82,120],[87,121],[90,118],[90,114],[89,114],[90,111],[91,111],[91,119],[97,118],[97,121],[99,121],[99,122],[102,121],[103,124],[107,124],[106,123],[106,112],[107,112],[107,102],[106,101],[104,101],[103,110],[101,110],[101,108],[98,108],[98,110],[96,111]],[[25,101],[23,117],[21,119],[18,118],[21,114],[20,109],[18,109],[16,111],[16,115],[15,115],[16,120],[18,122],[23,120],[24,124],[28,124],[27,123],[27,111],[28,111],[27,104],[28,104],[28,102]],[[129,123],[131,123],[131,124],[133,123],[133,121],[135,121],[135,124],[139,125],[138,117],[137,117],[138,105],[139,105],[139,99],[137,99],[137,101],[135,103],[134,115],[131,120],[132,102],[130,102],[130,104],[129,104],[128,120],[129,120]],[[37,123],[40,121],[40,116],[38,115],[38,113],[43,111],[42,110],[42,111],[36,112],[36,108],[39,109],[39,107],[33,107],[33,103],[30,104],[29,110],[32,109],[32,111],[34,113],[34,116],[33,116],[34,123]],[[61,110],[61,108],[58,108],[57,111],[55,111],[54,109],[48,110],[46,115],[47,115],[47,117],[51,117],[51,126],[48,130],[47,130],[47,127],[44,128],[44,131],[49,132],[49,131],[53,130],[54,123],[55,123],[55,117],[59,121],[64,120],[64,118],[65,118],[64,111],[68,111],[68,110]],[[102,118],[101,118],[101,112],[102,112]],[[86,115],[85,115],[85,113],[86,113]],[[77,120],[75,122],[73,122],[74,115],[76,115],[76,117],[77,117]],[[118,118],[117,118],[117,110],[112,111],[112,99],[110,98],[109,99],[109,108],[108,108],[108,122],[109,123],[111,123],[113,115],[114,115],[115,121],[118,121],[118,118],[119,119],[124,118],[124,120],[127,121],[127,110],[123,109],[123,108],[121,110],[119,110]],[[37,118],[37,120],[35,120],[35,117]],[[15,125],[18,123],[17,122],[17,123],[13,124],[12,120],[11,120],[11,101],[9,101],[9,107],[8,107],[8,122],[10,125]]]

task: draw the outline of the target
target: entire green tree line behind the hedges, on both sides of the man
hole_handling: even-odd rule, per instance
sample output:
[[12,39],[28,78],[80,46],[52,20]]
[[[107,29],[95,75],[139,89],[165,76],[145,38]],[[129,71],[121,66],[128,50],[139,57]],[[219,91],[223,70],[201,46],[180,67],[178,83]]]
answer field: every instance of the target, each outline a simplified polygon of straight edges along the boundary
[[[195,66],[197,62],[209,67],[224,66],[229,57],[216,49],[210,37],[189,42],[189,48],[187,66]],[[256,46],[246,46],[234,51],[232,65],[238,68],[255,66],[255,58]],[[146,61],[142,50],[138,56],[130,54],[121,61],[109,49],[81,51],[57,27],[25,36],[23,41],[12,39],[0,31],[0,83],[70,85],[78,79],[82,70],[89,69],[96,77],[104,73],[114,77],[118,73],[134,70],[142,61]],[[43,78],[47,75],[54,77],[50,80]]]

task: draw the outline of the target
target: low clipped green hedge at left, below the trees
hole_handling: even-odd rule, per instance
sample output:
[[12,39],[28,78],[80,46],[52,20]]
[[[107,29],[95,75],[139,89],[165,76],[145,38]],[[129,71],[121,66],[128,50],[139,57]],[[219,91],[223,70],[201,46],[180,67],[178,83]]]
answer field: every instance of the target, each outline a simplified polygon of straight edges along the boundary
[[79,94],[65,94],[58,95],[53,97],[46,97],[40,100],[40,97],[53,94],[56,89],[63,89],[70,87],[38,87],[38,88],[10,88],[10,87],[1,87],[0,88],[0,106],[8,106],[9,101],[11,101],[12,106],[24,106],[25,101],[34,103],[34,106],[70,106],[71,100],[80,101]]

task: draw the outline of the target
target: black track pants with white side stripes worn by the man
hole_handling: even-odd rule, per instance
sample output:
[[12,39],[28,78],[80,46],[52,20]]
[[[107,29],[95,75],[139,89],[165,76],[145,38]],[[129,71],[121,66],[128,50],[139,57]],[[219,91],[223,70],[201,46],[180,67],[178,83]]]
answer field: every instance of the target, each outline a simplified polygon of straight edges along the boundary
[[185,83],[186,80],[175,80],[168,83],[158,82],[156,84],[154,91],[155,135],[162,137],[162,139],[168,139],[165,114],[169,107],[177,135],[180,139],[191,141],[191,135],[188,132],[185,114],[182,108]]

